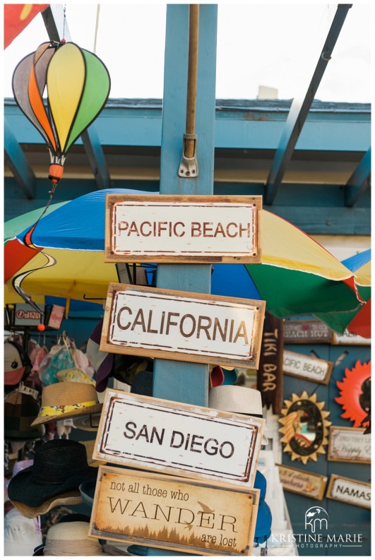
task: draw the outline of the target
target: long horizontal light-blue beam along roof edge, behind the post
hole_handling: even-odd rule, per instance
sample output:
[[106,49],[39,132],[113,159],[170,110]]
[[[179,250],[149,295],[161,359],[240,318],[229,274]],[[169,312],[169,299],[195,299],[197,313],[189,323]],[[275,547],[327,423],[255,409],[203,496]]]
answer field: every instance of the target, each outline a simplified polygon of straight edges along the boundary
[[[119,106],[109,101],[95,121],[104,145],[160,146],[162,107],[140,104]],[[251,103],[251,102],[249,102]],[[268,106],[265,102],[265,107]],[[215,148],[276,150],[285,126],[290,104],[280,102],[273,111],[255,109],[216,109]],[[317,103],[311,109],[295,150],[365,152],[371,143],[371,107],[369,104]],[[321,109],[319,109],[321,107]],[[328,107],[328,108],[327,108]],[[40,133],[7,99],[4,114],[19,143],[44,144]],[[76,145],[82,145],[78,140]],[[69,157],[69,154],[68,154]],[[68,162],[68,160],[67,160]]]

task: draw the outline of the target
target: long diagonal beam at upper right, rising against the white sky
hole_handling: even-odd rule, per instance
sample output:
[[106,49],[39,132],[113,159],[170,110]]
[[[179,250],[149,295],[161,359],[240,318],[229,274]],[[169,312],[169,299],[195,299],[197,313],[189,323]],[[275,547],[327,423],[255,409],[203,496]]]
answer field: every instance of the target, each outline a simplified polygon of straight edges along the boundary
[[311,78],[309,87],[307,88],[304,97],[294,97],[292,102],[292,107],[290,107],[290,112],[287,117],[287,122],[285,128],[282,131],[282,136],[278,149],[275,153],[275,158],[273,160],[273,165],[270,169],[270,174],[268,175],[266,183],[266,191],[264,196],[264,202],[266,204],[273,204],[275,200],[276,193],[281,184],[282,177],[285,174],[287,165],[290,162],[292,153],[297,144],[297,140],[306,121],[306,117],[309,114],[311,103],[314,100],[316,90],[319,88],[321,83],[321,78],[323,78],[323,73],[326,70],[328,61],[331,59],[331,54],[333,48],[335,47],[338,36],[340,35],[341,28],[347,16],[347,12],[352,7],[352,4],[339,4],[335,17],[328,35],[326,42],[323,45],[323,49],[319,56],[318,64],[314,74]]

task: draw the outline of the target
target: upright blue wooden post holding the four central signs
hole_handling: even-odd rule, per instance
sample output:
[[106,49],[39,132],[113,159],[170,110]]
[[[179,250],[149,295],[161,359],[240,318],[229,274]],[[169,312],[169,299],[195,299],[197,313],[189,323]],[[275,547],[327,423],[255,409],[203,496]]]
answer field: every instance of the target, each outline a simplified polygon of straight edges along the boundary
[[[189,5],[167,6],[165,78],[160,162],[161,194],[213,194],[215,135],[216,30],[218,7],[200,5],[196,135],[198,177],[178,176],[186,124],[186,88],[189,45]],[[157,287],[210,293],[211,266],[159,265]],[[208,365],[155,359],[153,395],[167,400],[207,406]],[[175,552],[148,549],[148,556]],[[179,555],[185,556],[180,553]]]

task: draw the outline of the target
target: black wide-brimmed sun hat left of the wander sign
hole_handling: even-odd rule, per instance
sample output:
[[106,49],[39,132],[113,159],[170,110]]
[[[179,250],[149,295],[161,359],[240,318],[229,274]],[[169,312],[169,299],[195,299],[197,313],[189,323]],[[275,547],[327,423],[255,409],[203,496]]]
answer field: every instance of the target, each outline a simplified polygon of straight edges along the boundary
[[[85,446],[70,439],[52,439],[36,449],[34,463],[11,479],[8,497],[20,504],[38,508],[52,498],[71,493],[97,469],[88,466]],[[81,502],[81,500],[80,500]],[[22,511],[21,511],[22,513]]]

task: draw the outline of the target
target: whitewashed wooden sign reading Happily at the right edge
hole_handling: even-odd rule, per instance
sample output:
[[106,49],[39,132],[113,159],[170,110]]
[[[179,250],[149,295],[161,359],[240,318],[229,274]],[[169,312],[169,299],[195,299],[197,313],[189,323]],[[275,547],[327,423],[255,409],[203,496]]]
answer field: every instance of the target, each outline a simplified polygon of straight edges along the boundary
[[363,428],[330,426],[328,461],[371,463],[371,435]]

